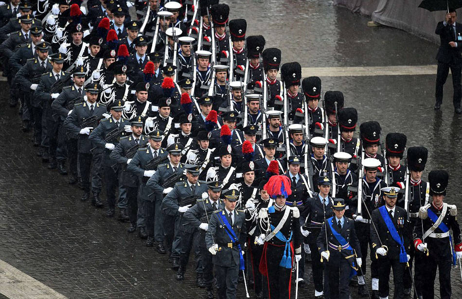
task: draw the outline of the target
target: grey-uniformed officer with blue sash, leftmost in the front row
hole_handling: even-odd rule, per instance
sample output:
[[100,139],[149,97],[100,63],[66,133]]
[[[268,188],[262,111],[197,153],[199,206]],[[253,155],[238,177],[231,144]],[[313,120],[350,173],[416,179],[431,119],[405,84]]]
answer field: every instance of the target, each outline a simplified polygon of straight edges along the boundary
[[239,271],[244,270],[244,244],[247,238],[246,213],[235,210],[239,193],[225,193],[225,208],[213,213],[205,243],[213,255],[219,299],[236,298]]

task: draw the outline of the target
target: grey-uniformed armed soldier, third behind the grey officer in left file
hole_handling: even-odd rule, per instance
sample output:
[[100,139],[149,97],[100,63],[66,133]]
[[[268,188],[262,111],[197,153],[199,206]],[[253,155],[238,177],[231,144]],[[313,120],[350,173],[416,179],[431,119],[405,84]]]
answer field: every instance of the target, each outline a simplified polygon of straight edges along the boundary
[[[177,182],[180,182],[180,180],[183,180],[183,171],[185,168],[184,168],[183,163],[180,163],[182,150],[183,150],[183,146],[181,144],[174,143],[170,145],[167,148],[168,159],[170,159],[170,162],[166,160],[164,162],[165,164],[159,165],[154,176],[151,176],[151,178],[149,178],[149,181],[147,182],[147,186],[151,188],[152,190],[154,190],[154,192],[157,194],[159,199],[161,199],[160,208],[163,211],[163,227],[173,228],[173,229],[161,229],[160,228],[159,233],[161,233],[162,231],[164,233],[165,245],[166,245],[167,250],[170,252],[169,261],[170,260],[172,261],[171,262],[172,269],[174,270],[178,270],[179,268],[179,257],[180,257],[180,250],[181,250],[180,237],[181,237],[181,230],[183,228],[181,228],[181,225],[180,225],[180,217],[179,217],[178,208],[175,210],[173,207],[165,206],[164,200],[161,198],[161,196],[162,194],[163,196],[166,196],[168,193],[170,193],[173,190]],[[158,230],[156,229],[156,232],[155,232],[156,235],[158,234],[157,231]],[[163,251],[161,250],[163,249],[163,246],[160,245],[162,243],[161,240],[159,240],[156,237],[156,241],[158,243],[157,250]],[[151,240],[148,239],[148,242],[146,242],[146,246],[151,246],[150,243],[152,243],[152,239]]]

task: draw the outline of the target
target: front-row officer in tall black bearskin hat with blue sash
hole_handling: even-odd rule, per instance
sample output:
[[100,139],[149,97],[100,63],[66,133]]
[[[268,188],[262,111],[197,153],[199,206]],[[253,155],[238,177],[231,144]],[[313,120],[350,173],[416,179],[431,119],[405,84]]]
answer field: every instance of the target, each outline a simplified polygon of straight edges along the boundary
[[[428,174],[432,202],[420,208],[421,226],[414,227],[415,270],[422,269],[421,281],[416,281],[422,289],[423,299],[435,296],[434,282],[438,268],[440,298],[451,298],[451,264],[462,258],[462,237],[456,220],[457,208],[445,202],[449,175],[445,170],[432,170]],[[439,223],[435,228],[434,225]],[[449,234],[452,229],[452,235]]]

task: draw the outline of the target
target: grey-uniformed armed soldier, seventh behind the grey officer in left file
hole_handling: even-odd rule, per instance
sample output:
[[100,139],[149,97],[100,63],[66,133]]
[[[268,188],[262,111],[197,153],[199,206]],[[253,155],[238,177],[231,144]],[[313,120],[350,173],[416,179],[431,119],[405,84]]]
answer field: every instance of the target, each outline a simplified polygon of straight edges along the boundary
[[64,127],[69,136],[77,140],[78,161],[83,189],[83,194],[80,198],[81,201],[89,199],[90,186],[93,194],[101,192],[102,155],[98,151],[91,151],[93,145],[89,140],[90,133],[98,126],[99,121],[104,118],[103,114],[106,113],[106,106],[96,103],[100,89],[101,87],[97,83],[88,84],[85,88],[85,102],[74,105],[71,114],[64,121]]

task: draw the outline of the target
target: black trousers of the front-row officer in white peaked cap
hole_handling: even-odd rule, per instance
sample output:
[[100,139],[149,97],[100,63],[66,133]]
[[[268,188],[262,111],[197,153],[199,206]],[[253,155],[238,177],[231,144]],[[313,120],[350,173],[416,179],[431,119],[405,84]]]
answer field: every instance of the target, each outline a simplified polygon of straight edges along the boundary
[[399,256],[394,256],[391,259],[390,254],[378,259],[378,292],[380,297],[388,297],[390,293],[390,271],[393,269],[393,284],[394,284],[394,299],[404,298],[403,274],[406,263],[399,262]]

